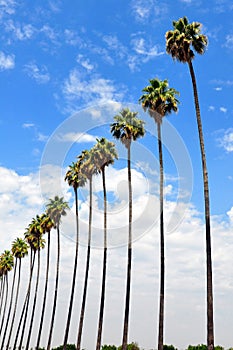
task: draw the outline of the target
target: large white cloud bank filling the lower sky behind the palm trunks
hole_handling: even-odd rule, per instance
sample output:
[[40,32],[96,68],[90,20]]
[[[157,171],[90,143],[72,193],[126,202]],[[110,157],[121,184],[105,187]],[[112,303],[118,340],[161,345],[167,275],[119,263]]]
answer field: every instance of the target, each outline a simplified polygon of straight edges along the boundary
[[[108,205],[108,233],[110,243],[127,242],[127,170],[117,171],[109,168],[107,172],[108,191],[114,191],[119,201],[111,203],[109,195]],[[1,221],[1,249],[9,248],[13,239],[22,235],[32,217],[43,210],[40,189],[48,196],[57,193],[57,184],[62,186],[62,195],[70,199],[68,186],[64,183],[64,171],[59,167],[47,165],[41,174],[43,180],[40,185],[38,174],[20,176],[14,170],[0,168],[0,221]],[[59,177],[59,181],[57,181]],[[133,244],[132,262],[132,299],[131,299],[131,333],[130,339],[139,342],[143,348],[155,347],[155,323],[158,315],[159,297],[159,227],[156,219],[158,197],[148,195],[147,183],[143,176],[133,169],[133,191],[135,194],[133,213],[133,233],[137,240]],[[126,186],[125,186],[126,185]],[[101,177],[95,177],[94,190],[101,191]],[[80,196],[80,239],[78,284],[76,289],[73,320],[79,318],[80,300],[82,296],[83,271],[85,270],[86,237],[88,220],[88,199],[83,189]],[[58,191],[59,192],[59,191]],[[71,192],[70,192],[71,193]],[[60,192],[59,192],[60,194]],[[93,244],[101,244],[103,236],[102,197],[95,192],[93,203]],[[147,203],[147,205],[146,205]],[[171,216],[174,208],[180,215],[184,208],[179,208],[173,202],[165,203],[165,220]],[[145,209],[145,210],[144,210]],[[179,212],[179,213],[178,213]],[[22,215],[23,213],[23,215]],[[232,218],[232,209],[227,213]],[[71,269],[74,258],[75,218],[68,212],[61,225],[61,269],[58,290],[58,305],[54,336],[56,343],[62,343],[64,335],[64,317],[67,316],[67,305],[70,295]],[[145,226],[146,225],[146,226]],[[114,230],[114,227],[117,230]],[[148,227],[147,233],[143,230]],[[144,233],[144,235],[143,235]],[[98,236],[98,237],[97,237]],[[139,239],[140,237],[140,239]],[[46,238],[46,236],[45,236]],[[205,227],[202,215],[191,204],[186,208],[183,222],[177,229],[167,234],[165,232],[166,257],[166,334],[168,339],[179,348],[186,348],[188,344],[205,342],[206,315],[206,272],[205,272]],[[218,342],[225,347],[231,346],[231,325],[233,305],[230,302],[233,292],[233,277],[231,252],[233,245],[232,226],[222,219],[212,218],[212,253],[214,276],[214,307],[218,315],[218,322],[224,323],[224,329],[218,335]],[[88,285],[88,303],[85,314],[85,331],[83,333],[83,347],[94,348],[96,325],[98,322],[99,292],[101,288],[102,250],[91,250],[90,279]],[[126,245],[109,250],[107,289],[103,334],[104,343],[120,343],[122,332],[122,315],[124,310],[125,278],[127,266]],[[53,290],[56,259],[56,235],[51,236],[51,270],[49,288]],[[26,260],[26,261],[25,261]],[[27,283],[28,261],[23,261],[22,285]],[[46,250],[41,253],[42,291],[45,278]],[[140,277],[140,278],[139,278]],[[23,290],[25,292],[25,289]],[[20,301],[24,293],[21,293]],[[48,296],[48,306],[52,304],[52,293]],[[114,308],[112,304],[114,303]],[[41,300],[38,308],[41,310]],[[187,312],[187,310],[190,310]],[[62,316],[62,317],[61,317]],[[143,321],[142,321],[143,320]],[[46,319],[47,321],[47,319]],[[178,323],[178,326],[176,327]],[[71,323],[70,341],[76,341],[76,322]],[[35,341],[35,334],[32,341]]]

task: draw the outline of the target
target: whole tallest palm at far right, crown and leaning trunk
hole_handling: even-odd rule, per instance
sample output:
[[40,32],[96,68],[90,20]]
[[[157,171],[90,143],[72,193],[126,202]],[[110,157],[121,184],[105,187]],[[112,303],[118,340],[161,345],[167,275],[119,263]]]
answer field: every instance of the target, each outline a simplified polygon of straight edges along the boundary
[[187,63],[193,85],[193,95],[196,110],[196,120],[199,133],[199,143],[202,158],[202,173],[205,202],[205,225],[206,225],[206,278],[207,278],[207,345],[208,350],[214,348],[214,314],[213,314],[213,280],[212,280],[212,257],[211,257],[211,229],[210,229],[210,203],[209,183],[202,130],[201,113],[197,92],[196,77],[192,61],[194,52],[204,54],[208,40],[201,34],[201,24],[189,23],[187,17],[173,21],[173,30],[166,33],[166,51],[178,62]]

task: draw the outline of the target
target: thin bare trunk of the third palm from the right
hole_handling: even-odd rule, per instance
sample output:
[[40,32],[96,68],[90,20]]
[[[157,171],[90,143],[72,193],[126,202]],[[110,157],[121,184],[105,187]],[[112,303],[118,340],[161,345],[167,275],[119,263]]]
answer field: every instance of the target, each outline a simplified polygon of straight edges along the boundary
[[128,328],[129,328],[130,287],[131,287],[131,264],[132,264],[132,183],[131,183],[130,147],[131,146],[129,145],[128,146],[128,187],[129,187],[128,265],[127,265],[125,318],[124,318],[124,328],[123,328],[122,350],[127,350]]

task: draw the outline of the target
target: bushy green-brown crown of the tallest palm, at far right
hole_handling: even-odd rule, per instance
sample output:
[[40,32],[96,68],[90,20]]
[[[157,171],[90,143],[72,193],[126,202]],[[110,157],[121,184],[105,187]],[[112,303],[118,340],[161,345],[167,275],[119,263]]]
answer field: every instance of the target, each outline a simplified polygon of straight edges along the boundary
[[[166,51],[177,61],[187,63],[194,57],[194,51],[203,54],[208,44],[207,37],[201,34],[201,23],[189,23],[187,17],[173,21],[174,30],[166,33]],[[193,50],[192,50],[192,48]]]

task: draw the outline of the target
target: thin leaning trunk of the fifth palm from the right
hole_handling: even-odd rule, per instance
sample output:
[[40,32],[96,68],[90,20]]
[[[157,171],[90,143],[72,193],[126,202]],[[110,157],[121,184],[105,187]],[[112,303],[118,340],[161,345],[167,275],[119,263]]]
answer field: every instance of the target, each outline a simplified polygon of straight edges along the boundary
[[83,321],[84,321],[86,298],[87,298],[87,284],[88,284],[88,274],[89,274],[89,265],[90,265],[90,255],[91,255],[92,177],[89,179],[89,191],[90,191],[90,204],[89,204],[88,246],[87,246],[87,259],[86,259],[86,272],[85,272],[85,281],[84,281],[84,289],[83,289],[83,299],[82,299],[80,319],[79,319],[77,350],[81,349],[82,330],[83,330]]

